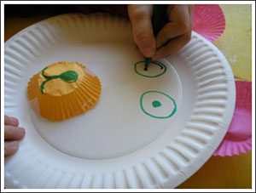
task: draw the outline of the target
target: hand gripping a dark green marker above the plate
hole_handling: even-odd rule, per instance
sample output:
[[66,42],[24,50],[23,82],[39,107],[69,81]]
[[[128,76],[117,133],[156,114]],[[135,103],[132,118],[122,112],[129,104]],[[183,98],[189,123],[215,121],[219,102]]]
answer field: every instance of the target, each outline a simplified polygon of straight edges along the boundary
[[153,5],[128,5],[128,13],[135,42],[145,57],[159,60],[176,53],[190,41],[193,5],[169,5],[163,14],[170,22],[156,39],[151,23]]

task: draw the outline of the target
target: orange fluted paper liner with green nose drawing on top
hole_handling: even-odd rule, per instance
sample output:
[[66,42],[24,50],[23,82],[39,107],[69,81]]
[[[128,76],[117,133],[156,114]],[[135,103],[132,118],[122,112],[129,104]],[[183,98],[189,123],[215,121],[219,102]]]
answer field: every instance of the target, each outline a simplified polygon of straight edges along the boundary
[[32,108],[40,116],[51,121],[65,120],[90,110],[101,94],[102,85],[99,78],[79,63],[54,63],[45,69],[44,75],[55,76],[65,71],[76,71],[78,80],[64,82],[61,78],[55,78],[46,82],[42,91],[40,86],[47,79],[40,71],[28,82],[27,94]]

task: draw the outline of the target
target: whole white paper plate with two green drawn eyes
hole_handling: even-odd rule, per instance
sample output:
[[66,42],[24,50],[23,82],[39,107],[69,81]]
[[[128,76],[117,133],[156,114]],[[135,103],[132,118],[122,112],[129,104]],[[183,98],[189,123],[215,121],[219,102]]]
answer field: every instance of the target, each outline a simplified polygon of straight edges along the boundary
[[[235,107],[230,65],[212,43],[193,32],[178,54],[161,60],[165,74],[143,77],[134,70],[143,56],[129,21],[108,14],[39,22],[5,43],[4,60],[5,114],[26,128],[20,150],[5,158],[6,188],[174,188],[212,156]],[[49,122],[32,110],[26,87],[57,61],[86,65],[100,78],[102,94],[84,115]],[[160,72],[150,65],[147,73]],[[165,94],[177,111],[155,118],[174,108]],[[142,95],[153,116],[143,112]],[[154,108],[154,100],[161,106]]]

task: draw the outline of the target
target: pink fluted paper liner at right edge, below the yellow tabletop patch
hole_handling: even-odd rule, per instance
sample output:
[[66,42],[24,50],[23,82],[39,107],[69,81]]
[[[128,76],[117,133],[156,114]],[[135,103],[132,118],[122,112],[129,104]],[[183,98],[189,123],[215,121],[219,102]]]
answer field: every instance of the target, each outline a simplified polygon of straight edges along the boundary
[[236,81],[236,108],[230,128],[213,156],[233,156],[252,150],[252,82]]

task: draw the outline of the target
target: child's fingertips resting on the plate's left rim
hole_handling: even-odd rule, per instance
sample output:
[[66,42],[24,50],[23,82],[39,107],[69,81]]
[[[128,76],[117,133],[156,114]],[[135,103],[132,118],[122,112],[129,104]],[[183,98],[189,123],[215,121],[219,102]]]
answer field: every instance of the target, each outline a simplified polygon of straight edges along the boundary
[[25,129],[18,126],[18,119],[4,116],[4,156],[10,156],[19,149],[18,140],[25,136]]

